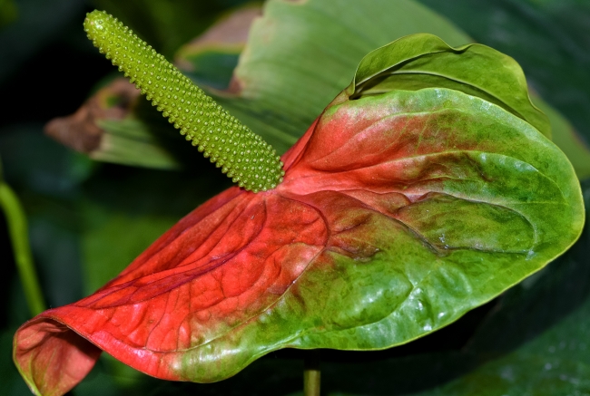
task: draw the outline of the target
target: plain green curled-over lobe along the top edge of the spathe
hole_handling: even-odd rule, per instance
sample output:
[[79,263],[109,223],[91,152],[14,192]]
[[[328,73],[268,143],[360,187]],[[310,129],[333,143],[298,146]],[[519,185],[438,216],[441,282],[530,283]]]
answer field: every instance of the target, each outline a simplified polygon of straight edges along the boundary
[[486,45],[452,48],[435,35],[413,34],[367,54],[349,90],[356,99],[428,87],[450,88],[497,104],[551,138],[549,120],[528,97],[518,63]]

